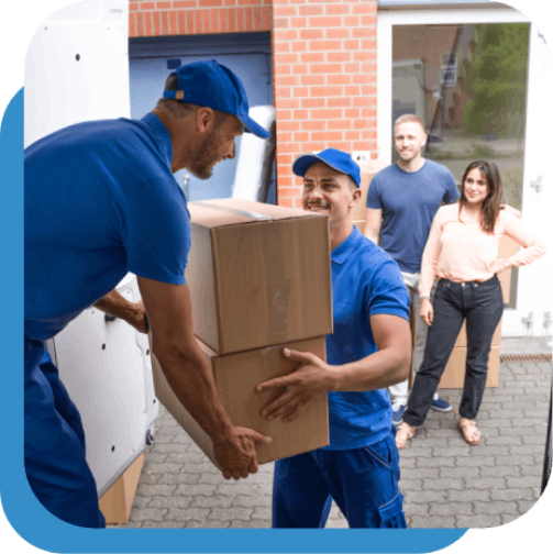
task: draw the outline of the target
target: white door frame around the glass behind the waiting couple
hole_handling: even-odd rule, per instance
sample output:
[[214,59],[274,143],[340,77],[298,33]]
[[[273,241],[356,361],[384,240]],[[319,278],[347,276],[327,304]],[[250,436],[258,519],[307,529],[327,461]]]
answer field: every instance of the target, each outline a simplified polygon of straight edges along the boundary
[[[502,336],[546,336],[553,324],[545,324],[553,314],[553,165],[548,164],[546,131],[553,129],[553,109],[548,106],[544,89],[553,90],[551,53],[543,31],[523,11],[505,3],[494,7],[471,4],[442,5],[440,9],[395,9],[378,12],[377,19],[377,149],[378,159],[391,164],[392,128],[392,25],[455,23],[530,23],[527,88],[527,125],[524,169],[522,177],[522,224],[548,245],[549,255],[519,272],[517,307],[506,308]],[[549,95],[551,96],[551,95]],[[541,137],[542,140],[537,137]],[[532,140],[531,140],[532,138]],[[551,157],[551,155],[550,155]],[[542,176],[542,190],[533,186]],[[532,324],[523,321],[530,314]]]

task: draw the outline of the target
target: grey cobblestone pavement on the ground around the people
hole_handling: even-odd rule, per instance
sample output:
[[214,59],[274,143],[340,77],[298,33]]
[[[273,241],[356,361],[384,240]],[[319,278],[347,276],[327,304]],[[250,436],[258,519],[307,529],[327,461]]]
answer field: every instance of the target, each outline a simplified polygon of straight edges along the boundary
[[[409,528],[496,529],[539,501],[551,394],[551,362],[501,363],[484,394],[479,445],[456,430],[461,390],[442,389],[452,412],[430,410],[400,453]],[[225,480],[161,407],[155,444],[144,453],[130,521],[118,528],[269,528],[274,464]],[[327,528],[347,528],[333,505]]]

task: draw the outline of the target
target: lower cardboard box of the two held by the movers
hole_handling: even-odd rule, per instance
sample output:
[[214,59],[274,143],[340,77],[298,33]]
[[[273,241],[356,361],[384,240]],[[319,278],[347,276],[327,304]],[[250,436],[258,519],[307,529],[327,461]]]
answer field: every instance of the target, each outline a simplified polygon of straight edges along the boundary
[[[284,346],[301,352],[312,352],[325,361],[324,336],[224,356],[219,355],[199,340],[198,344],[211,366],[219,397],[232,423],[254,429],[273,439],[270,444],[257,447],[259,464],[309,452],[330,443],[327,395],[312,400],[296,420],[283,423],[281,418],[267,421],[258,413],[259,407],[266,399],[269,396],[278,396],[280,390],[262,396],[254,392],[254,388],[259,383],[269,377],[287,375],[298,367],[296,362],[284,357],[281,354]],[[211,440],[177,399],[155,355],[152,355],[152,370],[158,400],[217,466]]]

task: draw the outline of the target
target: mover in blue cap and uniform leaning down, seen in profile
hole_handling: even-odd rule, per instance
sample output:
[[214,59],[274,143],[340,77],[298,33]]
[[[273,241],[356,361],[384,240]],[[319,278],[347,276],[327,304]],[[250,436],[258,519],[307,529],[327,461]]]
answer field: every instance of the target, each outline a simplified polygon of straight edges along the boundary
[[137,276],[153,351],[213,441],[223,476],[255,473],[255,443],[268,442],[232,424],[193,336],[185,281],[190,215],[173,173],[206,179],[234,157],[244,129],[269,133],[250,118],[240,79],[215,60],[184,65],[163,96],[140,121],[84,122],[25,149],[25,470],[42,505],[80,527],[106,522],[78,411],[44,341],[92,304],[144,331],[140,310],[125,315],[110,292],[128,272]]

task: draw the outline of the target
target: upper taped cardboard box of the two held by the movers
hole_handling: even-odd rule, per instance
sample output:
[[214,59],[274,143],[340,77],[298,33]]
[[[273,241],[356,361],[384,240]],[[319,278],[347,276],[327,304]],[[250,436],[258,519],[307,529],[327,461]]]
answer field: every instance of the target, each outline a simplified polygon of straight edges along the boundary
[[189,202],[195,334],[219,354],[332,333],[329,219],[233,198]]

